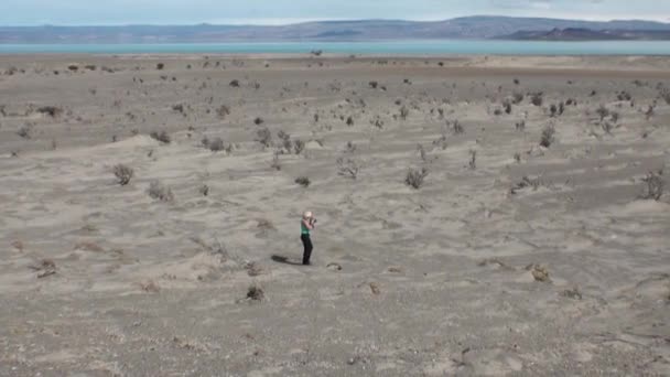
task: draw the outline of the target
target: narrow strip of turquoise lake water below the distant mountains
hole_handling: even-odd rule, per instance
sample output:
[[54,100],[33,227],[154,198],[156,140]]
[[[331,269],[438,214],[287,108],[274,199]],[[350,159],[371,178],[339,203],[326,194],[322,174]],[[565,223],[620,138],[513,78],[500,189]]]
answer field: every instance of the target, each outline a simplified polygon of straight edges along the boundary
[[393,41],[393,42],[277,42],[166,44],[0,44],[0,54],[33,53],[309,53],[370,55],[670,55],[670,41],[529,42],[529,41]]

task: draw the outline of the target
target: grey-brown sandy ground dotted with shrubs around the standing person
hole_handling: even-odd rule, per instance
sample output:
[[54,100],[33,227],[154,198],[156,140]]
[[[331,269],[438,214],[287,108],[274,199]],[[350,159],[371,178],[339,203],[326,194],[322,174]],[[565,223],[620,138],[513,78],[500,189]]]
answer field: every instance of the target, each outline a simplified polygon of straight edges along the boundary
[[670,374],[668,58],[0,73],[1,376]]

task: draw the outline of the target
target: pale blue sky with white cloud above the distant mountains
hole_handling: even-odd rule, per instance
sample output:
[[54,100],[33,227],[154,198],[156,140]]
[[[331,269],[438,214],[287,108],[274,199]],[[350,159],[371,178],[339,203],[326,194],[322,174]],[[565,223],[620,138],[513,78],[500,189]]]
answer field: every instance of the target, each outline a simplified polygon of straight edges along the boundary
[[475,14],[670,22],[670,0],[1,0],[0,25],[436,21]]

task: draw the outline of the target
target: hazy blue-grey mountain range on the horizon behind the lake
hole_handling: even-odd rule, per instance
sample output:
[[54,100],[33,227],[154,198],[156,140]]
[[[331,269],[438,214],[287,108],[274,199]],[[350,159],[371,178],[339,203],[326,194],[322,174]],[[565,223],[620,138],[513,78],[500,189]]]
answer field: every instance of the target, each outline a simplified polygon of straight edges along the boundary
[[0,43],[214,43],[430,39],[670,40],[670,24],[466,17],[445,21],[360,20],[268,25],[0,26]]

